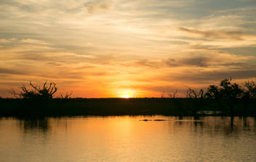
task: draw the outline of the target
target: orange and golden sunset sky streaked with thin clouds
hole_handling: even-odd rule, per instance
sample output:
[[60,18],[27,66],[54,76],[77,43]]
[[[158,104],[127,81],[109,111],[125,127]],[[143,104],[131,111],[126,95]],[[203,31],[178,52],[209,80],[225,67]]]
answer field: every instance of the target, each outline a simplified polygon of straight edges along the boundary
[[256,78],[255,0],[1,0],[0,96],[160,97]]

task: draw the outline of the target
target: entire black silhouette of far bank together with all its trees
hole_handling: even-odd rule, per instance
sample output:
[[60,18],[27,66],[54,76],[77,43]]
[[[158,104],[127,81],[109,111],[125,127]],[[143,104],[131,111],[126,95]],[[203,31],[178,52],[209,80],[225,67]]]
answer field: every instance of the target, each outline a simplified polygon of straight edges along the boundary
[[0,98],[0,116],[256,116],[256,82],[231,81],[205,90],[189,88],[186,98],[177,98],[177,90],[161,98],[70,98],[71,93],[54,98],[56,83],[40,87],[30,82],[30,88],[10,92],[15,98]]

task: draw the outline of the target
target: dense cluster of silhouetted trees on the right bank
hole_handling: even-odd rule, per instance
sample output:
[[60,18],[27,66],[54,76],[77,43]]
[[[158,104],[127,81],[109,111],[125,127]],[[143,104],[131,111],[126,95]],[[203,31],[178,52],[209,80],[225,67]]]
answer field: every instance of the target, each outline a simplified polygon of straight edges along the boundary
[[[252,116],[256,116],[256,82],[251,80],[244,82],[244,85],[239,85],[236,82],[231,82],[231,80],[231,77],[221,80],[219,86],[210,85],[207,90],[189,88],[186,91],[186,98],[194,98],[192,104],[194,106],[193,114],[196,115],[202,109],[202,99],[206,98],[208,99],[207,101],[214,99],[213,101],[217,103],[222,114],[248,116],[252,113]],[[251,103],[253,104],[251,105]]]

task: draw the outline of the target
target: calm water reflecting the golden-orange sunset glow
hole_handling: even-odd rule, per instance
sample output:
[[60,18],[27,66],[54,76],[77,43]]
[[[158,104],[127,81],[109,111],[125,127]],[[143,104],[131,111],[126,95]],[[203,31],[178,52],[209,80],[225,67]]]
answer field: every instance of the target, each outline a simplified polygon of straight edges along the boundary
[[228,117],[2,118],[0,161],[256,161],[256,122],[238,117],[233,124]]

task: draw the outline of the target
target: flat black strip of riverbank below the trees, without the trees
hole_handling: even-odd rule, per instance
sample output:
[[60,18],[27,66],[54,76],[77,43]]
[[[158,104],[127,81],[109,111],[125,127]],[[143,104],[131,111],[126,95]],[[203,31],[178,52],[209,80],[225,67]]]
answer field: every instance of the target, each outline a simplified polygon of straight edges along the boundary
[[[213,112],[204,114],[202,112]],[[214,113],[217,112],[217,113]],[[256,116],[256,99],[1,98],[0,116]]]

